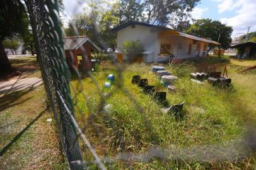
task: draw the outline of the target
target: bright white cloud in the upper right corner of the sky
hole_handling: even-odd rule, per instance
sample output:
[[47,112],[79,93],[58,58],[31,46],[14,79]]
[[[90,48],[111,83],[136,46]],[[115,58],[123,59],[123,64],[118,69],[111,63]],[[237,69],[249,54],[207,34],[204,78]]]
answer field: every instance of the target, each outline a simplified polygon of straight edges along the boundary
[[220,19],[222,23],[233,26],[232,37],[238,36],[238,33],[247,33],[247,26],[253,26],[250,31],[256,31],[256,1],[239,0],[239,3],[240,8],[234,12],[235,16]]

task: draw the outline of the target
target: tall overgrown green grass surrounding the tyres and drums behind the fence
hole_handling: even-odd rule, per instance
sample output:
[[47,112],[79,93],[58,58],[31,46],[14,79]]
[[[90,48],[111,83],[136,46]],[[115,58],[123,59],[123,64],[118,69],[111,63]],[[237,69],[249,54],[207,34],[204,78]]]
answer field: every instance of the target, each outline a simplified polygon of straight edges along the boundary
[[[229,63],[228,59],[208,58],[203,62],[209,64]],[[122,76],[119,71],[109,65],[107,71],[100,71],[93,76],[100,86],[102,93],[112,93],[112,96],[100,101],[100,93],[91,78],[87,77],[81,82],[83,89],[77,81],[71,82],[73,96],[80,125],[86,125],[86,136],[95,146],[100,156],[116,156],[119,152],[143,152],[149,147],[193,147],[195,145],[225,145],[226,141],[240,139],[246,125],[255,123],[256,113],[256,79],[254,75],[236,73],[234,66],[228,66],[233,83],[230,88],[220,89],[210,84],[195,84],[189,79],[189,72],[195,71],[191,62],[166,65],[166,69],[178,76],[175,83],[176,93],[168,93],[167,101],[174,105],[185,101],[183,120],[177,120],[172,115],[163,114],[163,107],[141,93],[141,89],[131,84],[132,76],[140,75],[148,78],[151,85],[158,90],[166,91],[160,84],[158,77],[150,71],[151,65],[132,64],[122,65]],[[202,60],[201,60],[202,62]],[[198,60],[199,64],[200,61]],[[104,66],[106,67],[106,65]],[[108,74],[115,74],[116,82],[111,89],[104,89]],[[120,88],[129,91],[121,91]],[[81,90],[82,93],[78,93]],[[78,93],[78,94],[75,94]],[[88,98],[84,99],[84,96]],[[136,101],[136,103],[133,101]],[[105,113],[102,108],[110,104],[110,112]],[[143,108],[143,111],[140,109]],[[91,114],[90,114],[91,113]],[[85,120],[83,118],[85,117]],[[85,121],[85,122],[84,122]],[[82,146],[86,153],[90,152]],[[255,156],[249,156],[238,162],[201,162],[188,160],[152,162],[115,162],[108,165],[110,169],[254,169]]]

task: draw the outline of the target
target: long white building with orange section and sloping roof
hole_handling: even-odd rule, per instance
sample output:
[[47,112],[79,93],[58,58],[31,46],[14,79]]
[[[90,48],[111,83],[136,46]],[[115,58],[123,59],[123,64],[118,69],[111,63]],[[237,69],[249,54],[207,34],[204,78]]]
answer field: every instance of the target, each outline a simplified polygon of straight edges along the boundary
[[150,25],[137,21],[128,21],[113,28],[117,32],[117,49],[115,56],[119,60],[127,60],[120,51],[124,41],[140,40],[144,45],[143,62],[161,62],[168,59],[168,55],[175,55],[175,59],[206,56],[209,44],[220,45],[218,42],[195,37],[181,31],[163,26]]

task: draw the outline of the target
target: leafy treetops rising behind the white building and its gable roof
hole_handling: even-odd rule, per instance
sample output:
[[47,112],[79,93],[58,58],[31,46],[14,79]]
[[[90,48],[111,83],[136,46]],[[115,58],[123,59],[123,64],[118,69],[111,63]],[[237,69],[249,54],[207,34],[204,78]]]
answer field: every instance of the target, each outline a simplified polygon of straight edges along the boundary
[[[65,32],[67,36],[76,35],[73,26],[79,35],[88,35],[103,48],[115,45],[115,33],[111,29],[125,21],[144,21],[154,25],[178,26],[185,29],[189,26],[187,17],[190,11],[200,0],[120,0],[115,3],[91,0],[89,8],[83,13],[76,14],[70,21]],[[102,5],[104,4],[104,5]],[[108,6],[108,8],[103,8]],[[177,28],[177,27],[175,27]],[[104,43],[103,43],[104,42]]]

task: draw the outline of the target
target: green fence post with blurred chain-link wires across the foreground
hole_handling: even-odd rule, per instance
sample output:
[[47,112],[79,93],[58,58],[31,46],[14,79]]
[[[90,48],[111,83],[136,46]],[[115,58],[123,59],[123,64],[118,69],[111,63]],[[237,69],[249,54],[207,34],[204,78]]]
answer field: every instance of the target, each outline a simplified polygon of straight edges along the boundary
[[[146,128],[149,128],[149,130],[151,129],[151,123],[147,116],[144,115],[143,106],[141,106],[132,93],[124,87],[122,81],[124,78],[122,76],[124,65],[114,63],[117,72],[116,90],[113,90],[110,93],[103,93],[90,69],[86,70],[86,75],[91,78],[96,86],[97,92],[100,94],[100,102],[97,105],[97,109],[96,111],[93,110],[88,101],[89,97],[84,93],[83,82],[81,80],[82,75],[78,71],[78,67],[75,65],[74,60],[72,60],[71,63],[73,63],[72,67],[74,73],[76,74],[76,77],[78,77],[78,86],[69,83],[71,75],[69,74],[69,67],[66,63],[57,0],[27,0],[25,3],[30,16],[37,50],[37,58],[40,63],[45,90],[54,113],[59,137],[61,139],[62,151],[65,154],[71,169],[83,169],[86,168],[88,163],[91,163],[91,161],[87,162],[87,160],[84,160],[84,157],[88,156],[89,153],[85,153],[86,156],[84,156],[82,152],[86,151],[82,151],[79,141],[83,142],[84,146],[90,150],[90,154],[93,156],[94,160],[92,162],[100,169],[106,169],[106,164],[111,164],[113,161],[147,162],[151,161],[153,158],[222,161],[226,159],[238,159],[250,154],[250,148],[252,146],[248,145],[248,141],[238,140],[236,142],[230,142],[226,147],[222,147],[222,145],[205,145],[190,148],[151,147],[148,151],[141,154],[122,152],[115,157],[98,156],[93,145],[88,140],[88,137],[86,137],[86,133],[84,133],[87,129],[87,125],[86,120],[84,120],[83,111],[77,106],[79,95],[83,96],[90,117],[104,113],[108,122],[115,124],[115,122],[112,121],[112,118],[110,118],[110,115],[106,113],[105,106],[106,100],[113,96],[113,91],[120,90],[136,106],[137,111],[141,113],[144,122],[146,122]],[[76,35],[79,35],[75,25],[73,25],[73,29],[76,31]],[[102,39],[100,39],[99,42],[102,42],[102,47],[106,47]],[[88,61],[89,58],[86,54],[86,49],[82,46],[81,50],[83,52],[83,57],[85,57],[84,59]],[[70,55],[71,59],[73,59],[74,54],[70,52]],[[71,96],[71,91],[74,91],[73,98]],[[83,123],[77,122],[76,116],[78,115],[83,120]],[[91,126],[95,127],[98,139],[100,140],[102,134],[97,130],[97,123],[94,122],[93,118],[90,119],[90,123]],[[115,127],[115,125],[112,127]],[[152,131],[152,133],[154,132]],[[118,136],[118,132],[116,135]],[[254,140],[255,139],[253,139],[253,141]],[[223,152],[226,152],[227,154],[223,155]]]

